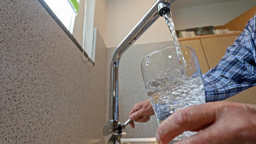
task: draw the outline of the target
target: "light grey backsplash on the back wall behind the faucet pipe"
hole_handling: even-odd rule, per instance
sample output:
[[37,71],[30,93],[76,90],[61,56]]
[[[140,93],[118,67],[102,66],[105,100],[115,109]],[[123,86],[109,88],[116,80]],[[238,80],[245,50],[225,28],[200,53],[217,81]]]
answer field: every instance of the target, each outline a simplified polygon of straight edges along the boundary
[[[119,65],[119,120],[126,122],[129,112],[135,103],[143,100],[148,100],[145,93],[145,87],[140,69],[140,62],[143,57],[156,49],[165,48],[173,45],[173,41],[166,41],[160,43],[137,44],[131,46],[122,55]],[[109,107],[109,67],[112,55],[115,48],[108,48],[107,55],[107,88],[106,88],[106,109]],[[108,115],[106,115],[108,117]],[[127,135],[124,138],[148,138],[155,137],[158,124],[155,116],[151,116],[147,123],[135,123],[135,129],[130,126],[124,130]]]

